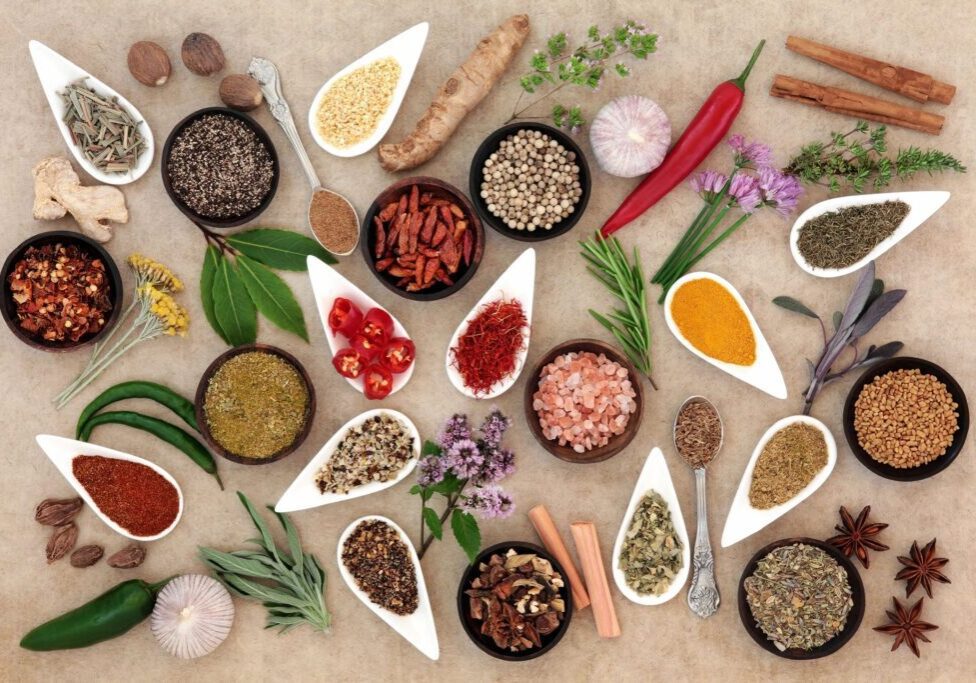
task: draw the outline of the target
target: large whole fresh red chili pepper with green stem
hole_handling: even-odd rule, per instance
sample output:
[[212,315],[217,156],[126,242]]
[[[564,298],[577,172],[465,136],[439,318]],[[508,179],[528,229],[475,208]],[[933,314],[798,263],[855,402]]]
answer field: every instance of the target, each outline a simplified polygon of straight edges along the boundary
[[609,237],[657,204],[664,195],[687,178],[698,164],[704,161],[715,145],[722,141],[732,127],[735,117],[739,115],[745,95],[746,79],[765,44],[765,40],[759,41],[759,45],[752,53],[752,59],[749,60],[741,76],[719,84],[712,91],[661,165],[651,171],[634,188],[634,191],[600,228],[600,233],[604,237]]

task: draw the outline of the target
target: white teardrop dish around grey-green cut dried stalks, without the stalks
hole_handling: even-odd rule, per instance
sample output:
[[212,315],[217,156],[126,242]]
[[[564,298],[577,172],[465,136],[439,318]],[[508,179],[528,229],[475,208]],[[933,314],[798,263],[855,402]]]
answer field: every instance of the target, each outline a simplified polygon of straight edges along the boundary
[[[149,130],[149,124],[146,123],[146,119],[139,110],[129,100],[116,92],[114,88],[95,78],[77,64],[68,61],[44,43],[32,40],[29,46],[31,59],[34,60],[34,69],[37,70],[37,78],[41,81],[44,96],[47,97],[47,103],[51,107],[51,113],[54,115],[58,130],[61,131],[64,142],[74,155],[75,161],[78,162],[88,175],[100,183],[126,185],[141,178],[152,164],[155,143],[153,142],[152,131]],[[117,97],[119,104],[128,109],[132,117],[139,122],[139,133],[142,134],[143,139],[146,141],[146,149],[139,155],[135,168],[126,173],[105,173],[95,168],[81,153],[78,145],[71,139],[71,131],[64,124],[65,106],[58,93],[64,90],[66,85],[83,78],[87,79],[85,83],[88,87],[92,88],[98,94],[110,98]]]

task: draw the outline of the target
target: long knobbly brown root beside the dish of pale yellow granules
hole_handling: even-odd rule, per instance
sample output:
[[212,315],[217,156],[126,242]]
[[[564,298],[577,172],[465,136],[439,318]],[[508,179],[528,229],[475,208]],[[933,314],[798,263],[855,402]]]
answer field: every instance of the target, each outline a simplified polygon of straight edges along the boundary
[[387,171],[406,171],[430,160],[491,91],[529,35],[529,17],[516,14],[485,36],[441,86],[413,132],[397,145],[380,145]]

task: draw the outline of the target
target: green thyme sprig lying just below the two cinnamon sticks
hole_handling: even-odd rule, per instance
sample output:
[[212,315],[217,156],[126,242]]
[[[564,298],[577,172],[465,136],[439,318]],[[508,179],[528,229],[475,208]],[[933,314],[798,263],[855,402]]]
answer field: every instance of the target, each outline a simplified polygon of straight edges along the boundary
[[908,180],[916,173],[965,173],[966,167],[951,154],[937,149],[908,147],[894,156],[887,154],[885,126],[873,129],[858,121],[853,130],[831,133],[827,142],[812,142],[800,149],[786,172],[806,183],[815,183],[839,192],[844,184],[862,192],[870,183],[875,190],[887,187],[894,178]]

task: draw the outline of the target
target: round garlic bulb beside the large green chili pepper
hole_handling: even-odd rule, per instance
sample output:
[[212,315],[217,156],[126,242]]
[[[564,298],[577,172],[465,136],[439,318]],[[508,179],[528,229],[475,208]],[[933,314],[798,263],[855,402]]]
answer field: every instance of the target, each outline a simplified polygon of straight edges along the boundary
[[219,581],[201,574],[177,576],[156,598],[150,626],[163,649],[180,659],[213,652],[234,621],[234,602]]

